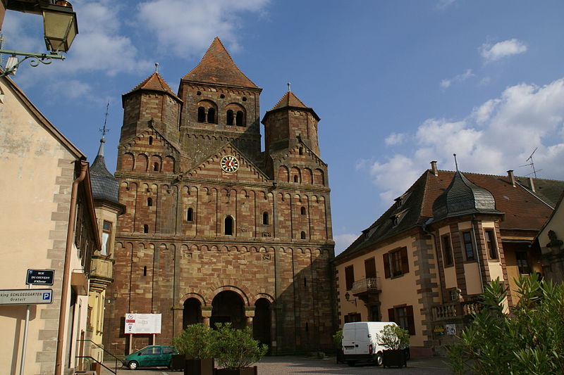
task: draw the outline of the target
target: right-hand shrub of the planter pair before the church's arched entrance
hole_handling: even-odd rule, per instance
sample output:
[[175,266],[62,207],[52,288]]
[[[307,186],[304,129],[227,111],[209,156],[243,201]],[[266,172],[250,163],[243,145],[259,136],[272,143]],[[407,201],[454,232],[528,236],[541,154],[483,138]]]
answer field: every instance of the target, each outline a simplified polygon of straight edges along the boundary
[[264,344],[252,338],[252,331],[234,329],[231,323],[216,324],[213,352],[221,369],[216,375],[255,375],[258,362],[268,350]]

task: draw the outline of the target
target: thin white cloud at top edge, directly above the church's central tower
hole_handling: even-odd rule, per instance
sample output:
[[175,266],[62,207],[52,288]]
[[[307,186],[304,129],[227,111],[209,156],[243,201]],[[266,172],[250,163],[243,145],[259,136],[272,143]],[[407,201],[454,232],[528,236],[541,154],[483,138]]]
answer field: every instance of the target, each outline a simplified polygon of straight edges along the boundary
[[178,56],[200,56],[219,36],[231,51],[240,46],[241,13],[261,15],[269,0],[151,0],[137,6],[140,25],[154,32],[159,49]]

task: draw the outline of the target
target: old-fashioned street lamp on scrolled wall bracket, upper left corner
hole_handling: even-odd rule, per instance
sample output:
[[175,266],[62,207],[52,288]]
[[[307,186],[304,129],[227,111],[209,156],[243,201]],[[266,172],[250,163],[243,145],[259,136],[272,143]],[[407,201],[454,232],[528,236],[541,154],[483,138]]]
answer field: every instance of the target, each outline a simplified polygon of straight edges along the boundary
[[[0,0],[4,1],[6,9],[25,13],[40,14],[43,17],[43,30],[45,46],[50,53],[30,53],[21,51],[8,51],[0,49],[0,53],[10,55],[4,72],[0,77],[16,74],[20,63],[30,58],[30,65],[37,66],[39,63],[50,64],[51,59],[64,60],[61,52],[68,52],[71,44],[78,34],[76,13],[71,3],[65,0]],[[23,56],[18,59],[16,56]]]

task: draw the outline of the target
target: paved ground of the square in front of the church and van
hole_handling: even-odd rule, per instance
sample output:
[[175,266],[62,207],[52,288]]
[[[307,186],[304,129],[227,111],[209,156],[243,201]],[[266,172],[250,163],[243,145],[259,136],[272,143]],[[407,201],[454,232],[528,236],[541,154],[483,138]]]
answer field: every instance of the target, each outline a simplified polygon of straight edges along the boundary
[[[349,367],[347,364],[336,363],[335,357],[328,357],[324,360],[305,358],[305,357],[264,357],[259,363],[259,375],[362,375],[362,374],[381,374],[381,375],[448,375],[452,374],[444,358],[433,357],[425,359],[413,359],[407,361],[407,367],[403,369],[376,367],[371,365],[358,364]],[[171,371],[164,368],[159,369],[119,369],[120,375],[182,375],[183,371]],[[102,371],[101,375],[111,375],[109,371]]]

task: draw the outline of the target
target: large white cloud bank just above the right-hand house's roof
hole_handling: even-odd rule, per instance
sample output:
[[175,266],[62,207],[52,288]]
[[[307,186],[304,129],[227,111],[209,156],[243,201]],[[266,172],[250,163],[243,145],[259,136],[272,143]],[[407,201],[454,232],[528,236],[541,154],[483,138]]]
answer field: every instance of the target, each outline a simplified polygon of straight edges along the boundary
[[[454,170],[453,153],[460,170],[489,174],[529,174],[525,165],[534,148],[541,178],[564,179],[564,78],[537,87],[517,84],[500,96],[473,108],[462,120],[430,118],[419,125],[412,153],[369,163],[373,183],[386,205],[415,182],[431,160],[440,169]],[[392,134],[393,135],[393,134]]]

